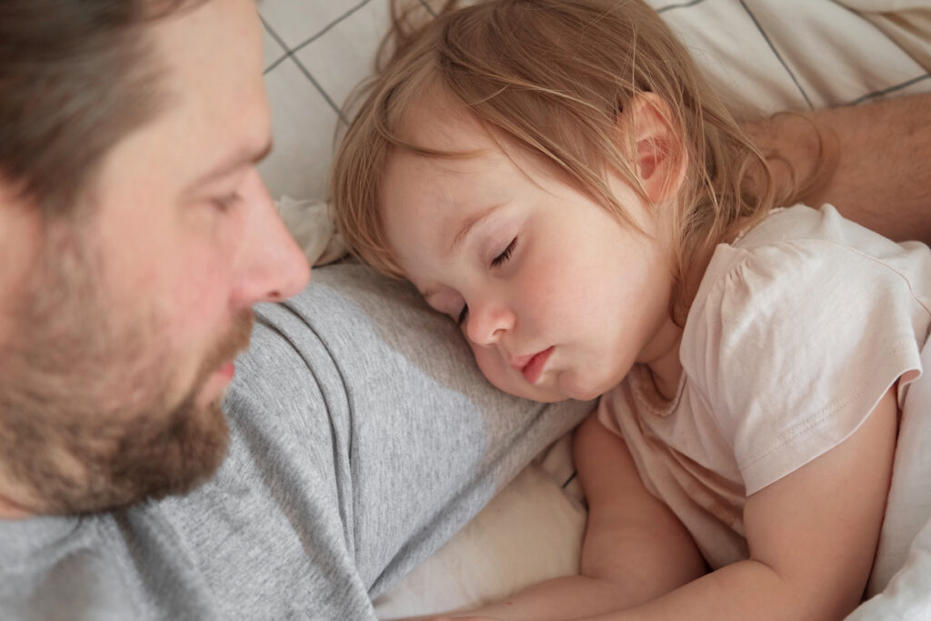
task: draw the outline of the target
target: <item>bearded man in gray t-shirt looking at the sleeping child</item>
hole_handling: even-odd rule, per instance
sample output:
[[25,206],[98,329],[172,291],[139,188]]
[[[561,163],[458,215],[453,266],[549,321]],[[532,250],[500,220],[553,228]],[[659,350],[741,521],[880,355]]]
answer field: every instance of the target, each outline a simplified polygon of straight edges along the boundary
[[[0,618],[372,619],[589,409],[492,390],[358,267],[300,292],[261,47],[252,0],[0,4]],[[928,103],[821,114],[823,197],[931,222]]]

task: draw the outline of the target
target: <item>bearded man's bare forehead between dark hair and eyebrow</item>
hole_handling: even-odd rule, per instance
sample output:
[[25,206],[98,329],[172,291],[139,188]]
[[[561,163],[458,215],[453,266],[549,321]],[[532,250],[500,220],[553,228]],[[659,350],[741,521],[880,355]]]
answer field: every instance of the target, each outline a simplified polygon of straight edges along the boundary
[[156,22],[149,35],[166,101],[107,155],[104,186],[127,196],[131,179],[187,196],[233,160],[250,165],[262,156],[271,119],[252,0],[208,0]]

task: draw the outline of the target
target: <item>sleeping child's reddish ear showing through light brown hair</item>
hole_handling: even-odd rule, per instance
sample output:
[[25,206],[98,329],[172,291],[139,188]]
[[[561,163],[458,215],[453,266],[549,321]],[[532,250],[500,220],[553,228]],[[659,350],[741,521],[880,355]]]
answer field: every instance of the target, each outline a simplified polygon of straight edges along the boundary
[[660,203],[675,196],[685,179],[688,153],[672,127],[666,101],[640,93],[621,114],[622,136],[632,144],[635,172],[647,198]]

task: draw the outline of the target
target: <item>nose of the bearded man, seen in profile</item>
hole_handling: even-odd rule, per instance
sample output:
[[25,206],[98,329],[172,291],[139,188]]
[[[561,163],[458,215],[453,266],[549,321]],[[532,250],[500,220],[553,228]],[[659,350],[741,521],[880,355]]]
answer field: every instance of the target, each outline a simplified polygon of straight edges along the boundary
[[258,172],[253,169],[250,175],[244,189],[250,217],[245,223],[235,292],[236,302],[243,306],[287,300],[310,279],[310,265],[285,228],[275,201]]

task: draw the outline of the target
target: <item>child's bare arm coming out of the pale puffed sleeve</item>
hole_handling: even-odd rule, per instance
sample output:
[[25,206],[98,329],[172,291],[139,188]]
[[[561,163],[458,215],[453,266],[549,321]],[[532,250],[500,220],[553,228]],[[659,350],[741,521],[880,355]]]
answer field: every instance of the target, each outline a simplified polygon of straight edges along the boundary
[[588,621],[838,619],[870,574],[895,451],[892,388],[849,439],[749,497],[750,560],[667,596]]

